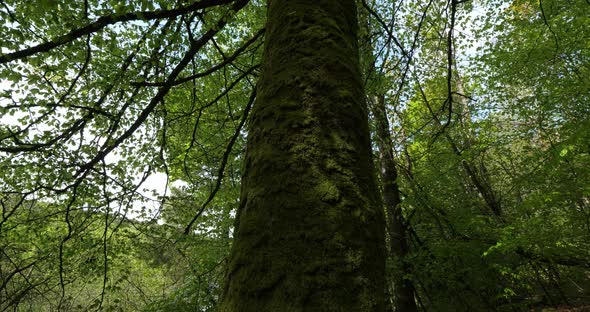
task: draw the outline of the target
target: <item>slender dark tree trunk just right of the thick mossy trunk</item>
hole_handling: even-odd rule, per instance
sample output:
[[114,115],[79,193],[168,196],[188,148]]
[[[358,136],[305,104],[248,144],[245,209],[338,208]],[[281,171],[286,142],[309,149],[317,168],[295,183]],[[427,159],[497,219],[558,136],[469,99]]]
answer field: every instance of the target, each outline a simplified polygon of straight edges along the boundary
[[406,224],[400,207],[401,196],[397,184],[397,168],[393,156],[393,141],[389,130],[389,121],[385,112],[385,95],[376,97],[373,105],[377,130],[377,146],[379,148],[379,163],[381,167],[381,184],[383,186],[383,202],[389,220],[389,244],[391,258],[394,267],[393,297],[394,311],[413,312],[418,311],[414,300],[414,285],[406,276],[410,274],[410,268],[404,262],[408,254],[408,240]]

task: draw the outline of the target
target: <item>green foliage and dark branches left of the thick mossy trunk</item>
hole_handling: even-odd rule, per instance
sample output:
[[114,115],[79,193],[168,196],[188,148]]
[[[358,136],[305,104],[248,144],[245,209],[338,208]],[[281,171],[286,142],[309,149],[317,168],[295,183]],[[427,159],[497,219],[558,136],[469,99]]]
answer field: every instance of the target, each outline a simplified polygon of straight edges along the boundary
[[0,309],[215,306],[261,54],[246,2],[2,2]]

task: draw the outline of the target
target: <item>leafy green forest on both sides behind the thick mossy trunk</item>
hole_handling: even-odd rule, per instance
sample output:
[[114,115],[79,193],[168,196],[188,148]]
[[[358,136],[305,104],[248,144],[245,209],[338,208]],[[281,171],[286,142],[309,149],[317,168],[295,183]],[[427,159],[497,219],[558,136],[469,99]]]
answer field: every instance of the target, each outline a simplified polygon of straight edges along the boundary
[[[358,7],[391,309],[590,309],[590,2]],[[0,1],[1,311],[216,310],[265,10]]]

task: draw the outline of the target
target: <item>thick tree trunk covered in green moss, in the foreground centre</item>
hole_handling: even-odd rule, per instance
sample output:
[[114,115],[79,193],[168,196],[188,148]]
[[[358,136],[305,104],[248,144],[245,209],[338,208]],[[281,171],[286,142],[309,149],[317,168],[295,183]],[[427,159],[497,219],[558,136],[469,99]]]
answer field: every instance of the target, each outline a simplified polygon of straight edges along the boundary
[[383,311],[355,0],[268,1],[221,311]]

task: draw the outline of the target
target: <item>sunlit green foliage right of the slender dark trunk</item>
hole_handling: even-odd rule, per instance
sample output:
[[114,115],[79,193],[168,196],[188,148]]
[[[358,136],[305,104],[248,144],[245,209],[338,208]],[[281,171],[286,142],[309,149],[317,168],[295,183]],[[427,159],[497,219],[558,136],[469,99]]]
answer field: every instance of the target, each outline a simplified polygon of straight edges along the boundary
[[371,38],[396,53],[369,84],[391,105],[416,295],[434,311],[585,305],[590,7],[454,3],[452,32],[450,1],[372,6],[399,42]]

